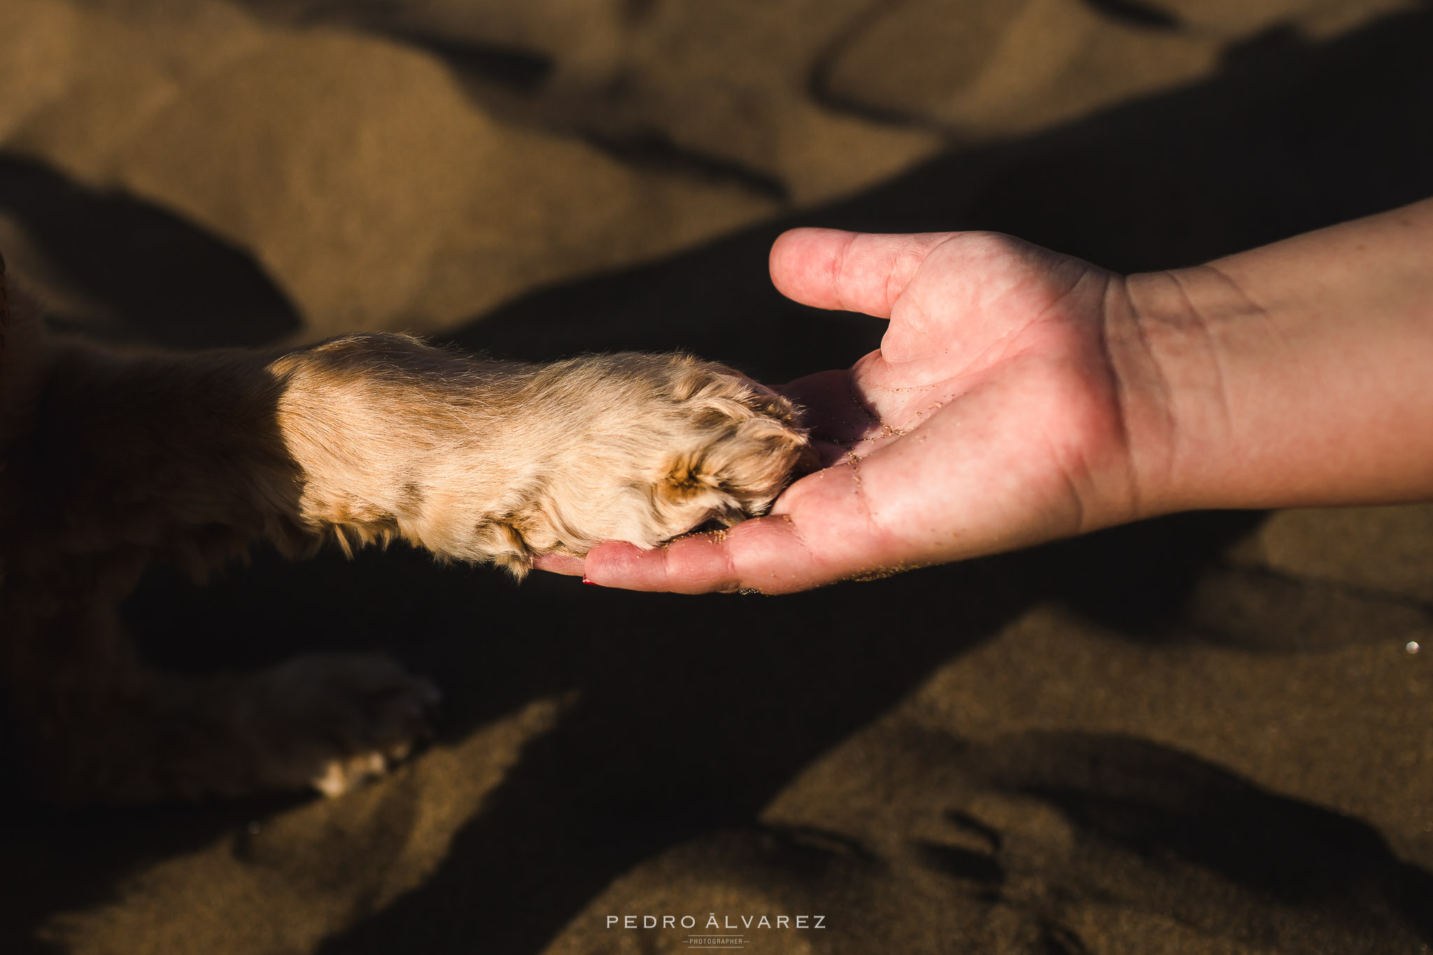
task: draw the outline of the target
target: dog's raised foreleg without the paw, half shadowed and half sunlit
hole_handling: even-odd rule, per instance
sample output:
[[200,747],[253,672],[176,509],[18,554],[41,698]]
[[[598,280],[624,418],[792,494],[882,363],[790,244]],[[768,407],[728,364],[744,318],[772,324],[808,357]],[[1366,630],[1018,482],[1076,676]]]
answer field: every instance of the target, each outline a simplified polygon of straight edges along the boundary
[[404,533],[450,553],[423,521],[457,483],[443,471],[453,450],[493,432],[446,401],[492,398],[474,368],[393,335],[285,355],[54,341],[21,402],[13,467],[0,471],[6,500],[52,504],[0,515],[0,530],[62,550],[159,553],[206,535],[224,551],[255,537],[297,551],[325,535]]

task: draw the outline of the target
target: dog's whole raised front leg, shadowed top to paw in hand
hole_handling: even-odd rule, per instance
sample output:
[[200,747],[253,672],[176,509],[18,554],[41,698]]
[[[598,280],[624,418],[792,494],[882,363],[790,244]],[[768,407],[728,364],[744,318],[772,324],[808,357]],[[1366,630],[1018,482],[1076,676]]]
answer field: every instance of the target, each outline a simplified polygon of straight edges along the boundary
[[112,541],[199,571],[259,535],[403,537],[519,576],[761,514],[814,465],[797,409],[721,365],[493,362],[403,335],[275,359],[70,345],[10,458],[7,498],[46,504],[14,528],[40,548]]

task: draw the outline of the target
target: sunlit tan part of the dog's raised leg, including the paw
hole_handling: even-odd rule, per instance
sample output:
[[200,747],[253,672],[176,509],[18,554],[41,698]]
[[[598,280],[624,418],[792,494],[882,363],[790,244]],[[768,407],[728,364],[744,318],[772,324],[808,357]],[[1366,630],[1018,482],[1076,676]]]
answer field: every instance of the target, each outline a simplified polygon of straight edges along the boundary
[[304,517],[345,547],[403,537],[522,577],[764,514],[815,467],[795,405],[689,355],[527,365],[361,335],[275,368]]

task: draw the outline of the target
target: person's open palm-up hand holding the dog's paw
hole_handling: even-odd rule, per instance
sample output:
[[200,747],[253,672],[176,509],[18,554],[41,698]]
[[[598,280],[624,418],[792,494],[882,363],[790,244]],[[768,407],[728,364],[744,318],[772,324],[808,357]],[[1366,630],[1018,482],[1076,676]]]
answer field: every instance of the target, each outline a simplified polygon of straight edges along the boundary
[[1122,276],[997,233],[833,229],[782,235],[771,276],[798,302],[890,319],[848,371],[780,389],[807,409],[827,467],[728,531],[602,544],[592,583],[785,593],[1135,515]]

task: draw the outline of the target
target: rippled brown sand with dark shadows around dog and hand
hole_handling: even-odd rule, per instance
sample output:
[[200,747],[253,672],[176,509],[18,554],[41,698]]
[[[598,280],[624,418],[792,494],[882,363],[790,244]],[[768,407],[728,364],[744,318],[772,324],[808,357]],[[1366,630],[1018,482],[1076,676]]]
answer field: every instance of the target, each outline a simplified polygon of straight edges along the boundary
[[[1433,195],[1429,49],[1391,0],[4,0],[0,248],[115,341],[401,328],[781,381],[880,336],[771,291],[781,229],[1135,271],[1387,209]],[[438,742],[332,800],[11,792],[3,951],[1433,944],[1430,505],[782,598],[261,553],[126,617],[188,672],[384,649],[443,686]]]

